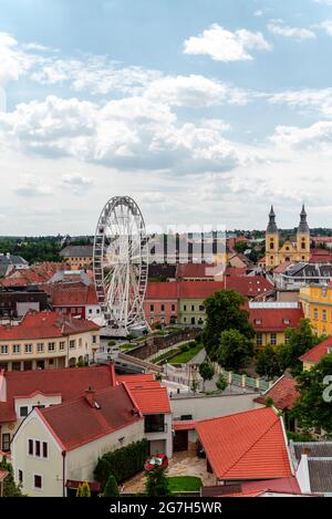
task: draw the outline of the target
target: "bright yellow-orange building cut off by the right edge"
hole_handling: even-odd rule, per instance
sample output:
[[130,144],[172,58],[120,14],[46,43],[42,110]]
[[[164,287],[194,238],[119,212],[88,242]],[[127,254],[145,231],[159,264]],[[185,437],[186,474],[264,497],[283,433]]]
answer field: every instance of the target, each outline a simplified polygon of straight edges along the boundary
[[332,335],[332,287],[321,284],[303,287],[300,289],[299,300],[314,333]]

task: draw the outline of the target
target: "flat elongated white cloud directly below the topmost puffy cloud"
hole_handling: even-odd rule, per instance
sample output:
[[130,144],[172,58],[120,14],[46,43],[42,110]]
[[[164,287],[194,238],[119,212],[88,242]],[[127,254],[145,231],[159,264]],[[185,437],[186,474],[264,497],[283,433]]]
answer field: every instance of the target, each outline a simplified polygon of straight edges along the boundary
[[174,106],[193,107],[247,102],[247,94],[240,89],[196,74],[160,77],[149,84],[144,96]]

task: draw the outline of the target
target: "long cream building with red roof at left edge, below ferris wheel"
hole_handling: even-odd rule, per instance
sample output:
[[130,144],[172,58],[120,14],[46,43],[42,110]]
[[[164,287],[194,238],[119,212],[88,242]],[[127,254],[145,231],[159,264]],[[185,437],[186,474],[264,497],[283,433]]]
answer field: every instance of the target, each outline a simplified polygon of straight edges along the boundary
[[15,325],[0,325],[0,369],[43,370],[91,362],[100,326],[59,312],[29,312]]

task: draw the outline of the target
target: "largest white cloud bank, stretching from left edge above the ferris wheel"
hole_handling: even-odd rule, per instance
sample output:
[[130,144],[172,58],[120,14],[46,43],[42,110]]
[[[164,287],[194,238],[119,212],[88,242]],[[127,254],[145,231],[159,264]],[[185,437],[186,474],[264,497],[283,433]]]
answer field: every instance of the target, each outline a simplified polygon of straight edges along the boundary
[[103,105],[48,96],[0,114],[8,145],[27,153],[113,165],[120,169],[225,170],[256,158],[222,135],[224,121],[179,123],[167,104],[146,97]]

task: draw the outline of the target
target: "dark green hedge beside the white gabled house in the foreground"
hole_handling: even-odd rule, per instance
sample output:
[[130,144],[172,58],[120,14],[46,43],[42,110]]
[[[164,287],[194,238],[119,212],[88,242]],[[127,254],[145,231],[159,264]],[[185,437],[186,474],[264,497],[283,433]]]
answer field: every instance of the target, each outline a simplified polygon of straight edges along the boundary
[[94,469],[94,477],[101,484],[102,489],[104,489],[110,476],[114,476],[116,482],[120,484],[143,470],[147,457],[148,444],[144,438],[126,447],[104,454],[98,458]]

